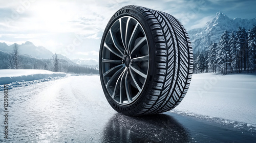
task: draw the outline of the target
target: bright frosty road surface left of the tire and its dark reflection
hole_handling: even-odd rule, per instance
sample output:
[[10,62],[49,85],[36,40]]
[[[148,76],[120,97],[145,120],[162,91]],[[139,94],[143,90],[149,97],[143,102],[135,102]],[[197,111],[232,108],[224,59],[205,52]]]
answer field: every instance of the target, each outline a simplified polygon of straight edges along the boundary
[[9,137],[18,142],[77,142],[100,136],[102,121],[116,112],[98,83],[98,76],[70,76],[9,90]]

